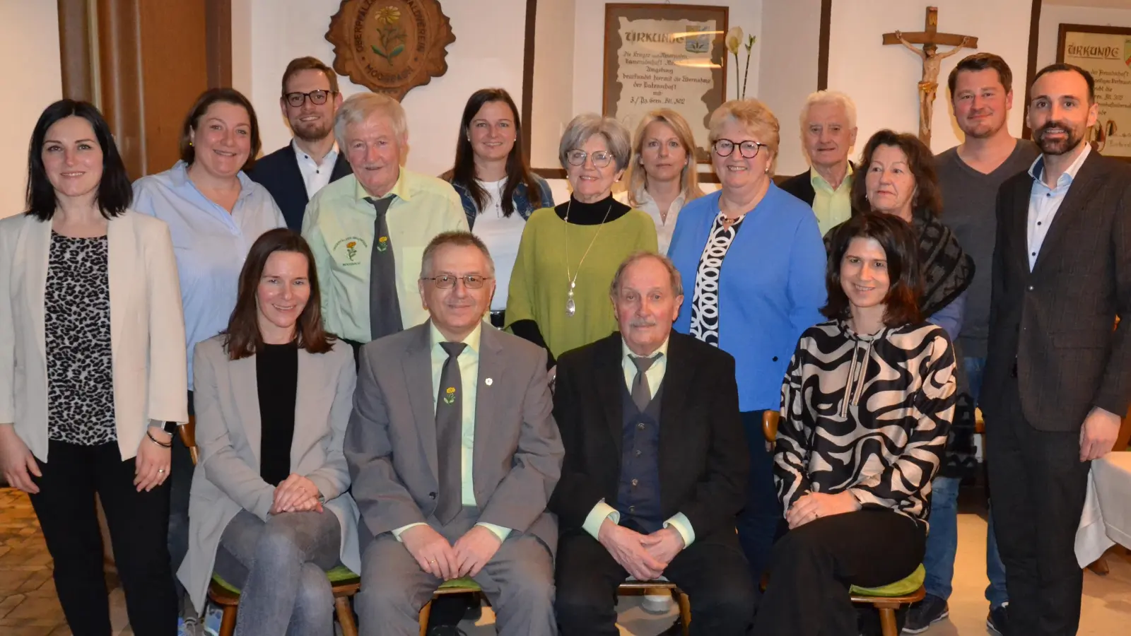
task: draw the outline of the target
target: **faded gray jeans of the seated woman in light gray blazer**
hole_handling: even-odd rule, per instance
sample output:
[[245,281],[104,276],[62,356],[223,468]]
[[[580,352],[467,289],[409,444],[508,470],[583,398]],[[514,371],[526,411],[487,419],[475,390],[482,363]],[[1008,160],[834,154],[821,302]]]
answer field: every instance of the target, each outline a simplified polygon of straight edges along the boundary
[[333,636],[334,594],[326,570],[338,564],[342,526],[334,513],[283,513],[264,523],[241,510],[216,550],[215,570],[240,587],[238,636]]

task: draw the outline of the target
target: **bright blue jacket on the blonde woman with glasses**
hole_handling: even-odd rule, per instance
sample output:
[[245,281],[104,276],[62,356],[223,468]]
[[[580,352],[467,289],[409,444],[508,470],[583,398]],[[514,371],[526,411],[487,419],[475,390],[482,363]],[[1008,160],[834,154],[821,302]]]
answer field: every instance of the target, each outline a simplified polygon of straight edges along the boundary
[[[680,210],[667,256],[683,277],[675,330],[691,328],[699,257],[718,216],[719,192]],[[777,410],[801,333],[821,323],[824,243],[813,210],[770,183],[746,214],[719,273],[719,349],[734,356],[742,411]]]

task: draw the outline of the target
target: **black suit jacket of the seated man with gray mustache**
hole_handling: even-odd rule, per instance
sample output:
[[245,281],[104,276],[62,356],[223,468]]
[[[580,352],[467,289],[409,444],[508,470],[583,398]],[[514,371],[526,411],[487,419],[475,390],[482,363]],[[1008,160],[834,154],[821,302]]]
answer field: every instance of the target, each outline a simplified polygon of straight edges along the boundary
[[[566,447],[550,499],[561,533],[578,532],[598,501],[616,504],[624,371],[619,333],[558,359],[554,420]],[[737,545],[750,455],[739,415],[734,359],[672,332],[659,416],[661,516],[683,513],[696,542]]]

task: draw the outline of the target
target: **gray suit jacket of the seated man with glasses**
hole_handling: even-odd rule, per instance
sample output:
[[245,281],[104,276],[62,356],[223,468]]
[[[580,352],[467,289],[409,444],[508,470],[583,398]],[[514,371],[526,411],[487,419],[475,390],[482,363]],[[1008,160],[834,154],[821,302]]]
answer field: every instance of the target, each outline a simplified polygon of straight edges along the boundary
[[[441,527],[434,515],[440,478],[430,326],[361,350],[345,455],[365,522],[359,528],[363,551],[374,536],[408,524]],[[553,553],[558,522],[546,505],[561,475],[563,450],[551,414],[545,350],[484,325],[476,387],[477,522],[533,534]]]

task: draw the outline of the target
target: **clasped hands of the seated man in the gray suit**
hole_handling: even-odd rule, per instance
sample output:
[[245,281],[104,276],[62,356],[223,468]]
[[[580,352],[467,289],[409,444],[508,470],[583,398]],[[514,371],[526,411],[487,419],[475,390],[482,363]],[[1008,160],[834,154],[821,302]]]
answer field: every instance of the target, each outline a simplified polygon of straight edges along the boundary
[[482,525],[472,526],[455,544],[426,524],[404,531],[400,541],[422,570],[444,581],[476,576],[502,545],[499,536]]

